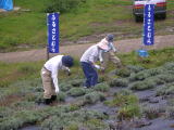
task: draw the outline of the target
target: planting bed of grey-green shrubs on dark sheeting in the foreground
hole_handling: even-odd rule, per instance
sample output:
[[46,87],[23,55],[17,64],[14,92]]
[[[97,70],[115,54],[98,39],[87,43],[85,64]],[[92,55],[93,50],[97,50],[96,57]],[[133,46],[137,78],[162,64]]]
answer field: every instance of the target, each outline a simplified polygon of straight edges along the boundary
[[151,69],[128,65],[107,77],[90,89],[80,77],[60,81],[50,106],[40,103],[40,79],[0,88],[0,130],[174,129],[174,63]]

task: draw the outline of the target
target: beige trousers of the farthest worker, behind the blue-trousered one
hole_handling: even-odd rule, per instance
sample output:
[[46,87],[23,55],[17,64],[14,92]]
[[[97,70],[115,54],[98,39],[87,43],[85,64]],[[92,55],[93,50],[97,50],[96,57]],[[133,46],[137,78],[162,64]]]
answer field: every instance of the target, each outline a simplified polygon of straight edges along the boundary
[[114,54],[113,51],[103,52],[103,63],[101,66],[105,68],[109,61],[111,61],[116,67],[121,66],[121,60]]

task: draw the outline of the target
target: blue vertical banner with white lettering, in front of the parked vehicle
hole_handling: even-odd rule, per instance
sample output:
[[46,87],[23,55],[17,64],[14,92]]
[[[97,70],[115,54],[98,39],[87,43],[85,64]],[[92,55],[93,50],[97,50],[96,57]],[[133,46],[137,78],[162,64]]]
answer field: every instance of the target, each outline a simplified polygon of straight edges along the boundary
[[154,43],[154,4],[146,4],[144,11],[144,44]]

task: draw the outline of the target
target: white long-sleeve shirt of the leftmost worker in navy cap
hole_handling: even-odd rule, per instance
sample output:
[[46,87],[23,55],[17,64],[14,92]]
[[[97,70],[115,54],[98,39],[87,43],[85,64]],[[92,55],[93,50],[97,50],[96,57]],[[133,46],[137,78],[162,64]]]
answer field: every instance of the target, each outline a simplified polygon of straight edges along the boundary
[[51,78],[53,80],[53,84],[54,84],[55,89],[59,89],[59,82],[58,82],[59,69],[70,70],[69,67],[63,66],[62,57],[63,57],[63,55],[57,55],[54,57],[51,57],[44,65],[48,70],[51,72]]

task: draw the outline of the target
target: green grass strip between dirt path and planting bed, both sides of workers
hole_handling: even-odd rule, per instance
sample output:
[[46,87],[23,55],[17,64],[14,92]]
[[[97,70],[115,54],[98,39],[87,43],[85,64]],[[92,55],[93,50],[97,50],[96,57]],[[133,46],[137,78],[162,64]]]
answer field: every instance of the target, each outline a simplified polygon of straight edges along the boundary
[[[153,68],[163,65],[166,62],[174,61],[174,48],[166,48],[163,50],[151,50],[149,51],[149,57],[139,58],[137,53],[132,52],[127,54],[120,54],[119,57],[121,58],[124,65],[138,65],[144,66],[145,68]],[[30,62],[30,63],[0,63],[0,86],[5,87],[12,82],[22,79],[34,79],[40,77],[40,69],[44,65],[44,62]],[[113,64],[109,64],[108,69],[105,72],[109,73],[113,70]],[[82,68],[79,66],[78,60],[75,60],[75,67],[72,68],[72,78],[82,79]],[[99,72],[99,75],[101,73]],[[61,73],[59,77],[63,79],[66,77],[64,73]],[[101,76],[104,76],[103,74]],[[71,78],[70,77],[70,78]],[[80,83],[82,81],[79,80]]]

